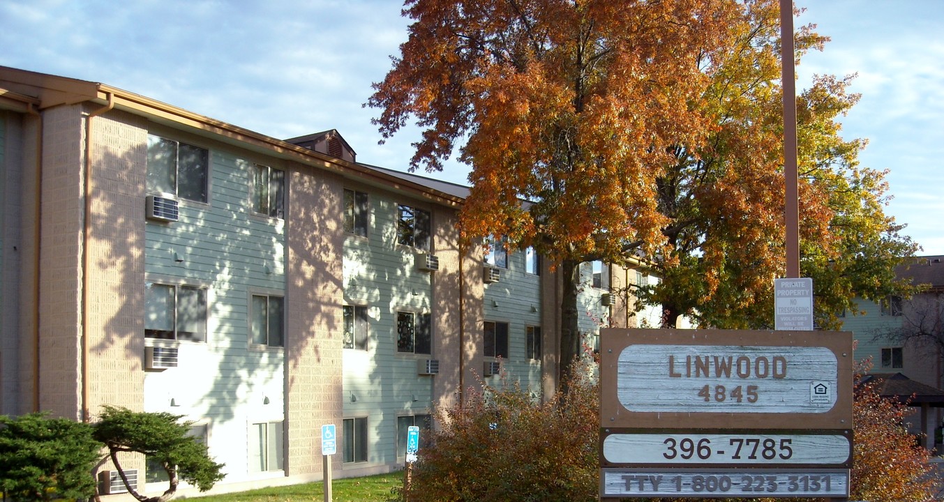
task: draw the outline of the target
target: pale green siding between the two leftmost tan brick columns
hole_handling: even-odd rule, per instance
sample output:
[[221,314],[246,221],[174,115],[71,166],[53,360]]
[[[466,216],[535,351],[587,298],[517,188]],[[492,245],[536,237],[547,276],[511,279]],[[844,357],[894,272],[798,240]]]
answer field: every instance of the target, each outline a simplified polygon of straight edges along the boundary
[[239,478],[251,424],[284,419],[284,349],[250,347],[249,304],[252,293],[285,294],[285,222],[252,210],[255,159],[195,144],[210,150],[209,201],[181,199],[179,221],[148,221],[144,262],[148,282],[207,288],[207,341],[180,342],[177,368],[146,375],[145,409],[209,421],[211,450]]

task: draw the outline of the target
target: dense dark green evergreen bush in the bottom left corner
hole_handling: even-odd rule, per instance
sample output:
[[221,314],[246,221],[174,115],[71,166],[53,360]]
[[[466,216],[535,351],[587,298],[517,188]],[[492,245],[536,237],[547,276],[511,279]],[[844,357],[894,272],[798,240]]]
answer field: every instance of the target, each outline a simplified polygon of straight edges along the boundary
[[88,424],[45,413],[0,415],[0,492],[10,500],[90,497],[101,446]]

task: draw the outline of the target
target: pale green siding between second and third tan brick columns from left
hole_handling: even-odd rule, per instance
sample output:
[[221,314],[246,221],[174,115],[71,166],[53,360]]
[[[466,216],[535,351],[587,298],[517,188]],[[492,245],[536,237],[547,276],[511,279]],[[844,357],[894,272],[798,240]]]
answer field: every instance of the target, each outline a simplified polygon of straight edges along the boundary
[[[453,354],[404,354],[396,351],[396,314],[440,312],[432,310],[433,273],[416,269],[421,251],[396,243],[397,206],[434,209],[421,201],[379,192],[362,186],[347,189],[368,194],[367,236],[348,234],[344,251],[346,305],[368,308],[367,350],[345,349],[345,417],[367,417],[367,464],[396,464],[396,417],[430,411],[431,376],[416,372],[417,360],[455,360]],[[338,210],[341,210],[340,208]],[[433,330],[432,337],[442,336]],[[345,469],[361,467],[347,464]]]

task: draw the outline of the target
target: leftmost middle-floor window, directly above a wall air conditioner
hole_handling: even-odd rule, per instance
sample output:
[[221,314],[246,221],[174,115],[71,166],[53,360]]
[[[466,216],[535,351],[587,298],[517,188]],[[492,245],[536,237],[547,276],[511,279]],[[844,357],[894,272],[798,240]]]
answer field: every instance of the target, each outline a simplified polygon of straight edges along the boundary
[[145,288],[145,337],[207,341],[207,290],[151,282]]

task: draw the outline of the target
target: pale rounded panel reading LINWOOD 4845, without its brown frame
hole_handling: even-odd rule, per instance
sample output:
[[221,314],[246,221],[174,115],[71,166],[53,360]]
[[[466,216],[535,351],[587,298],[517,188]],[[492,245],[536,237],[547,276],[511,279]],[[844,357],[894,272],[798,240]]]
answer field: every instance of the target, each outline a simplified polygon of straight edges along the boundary
[[640,343],[619,354],[616,396],[630,411],[823,413],[837,378],[826,347]]

